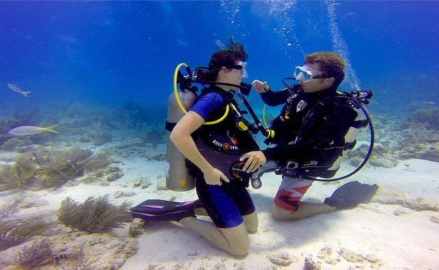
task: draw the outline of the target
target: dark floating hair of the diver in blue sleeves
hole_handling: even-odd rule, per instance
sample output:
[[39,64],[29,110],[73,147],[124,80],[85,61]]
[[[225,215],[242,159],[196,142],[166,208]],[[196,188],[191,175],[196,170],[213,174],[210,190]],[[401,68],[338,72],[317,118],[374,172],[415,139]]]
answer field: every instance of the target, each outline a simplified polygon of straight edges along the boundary
[[228,69],[232,69],[239,61],[245,62],[248,58],[244,47],[241,43],[233,40],[230,36],[228,39],[228,48],[216,51],[211,56],[209,61],[209,71],[198,72],[198,76],[205,81],[216,81],[219,71],[225,66]]

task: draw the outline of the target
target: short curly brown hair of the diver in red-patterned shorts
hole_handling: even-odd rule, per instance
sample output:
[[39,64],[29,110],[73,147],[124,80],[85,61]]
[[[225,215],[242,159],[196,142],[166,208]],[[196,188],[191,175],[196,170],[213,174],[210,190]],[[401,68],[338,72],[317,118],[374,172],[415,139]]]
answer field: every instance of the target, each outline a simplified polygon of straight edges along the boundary
[[335,78],[333,83],[334,88],[340,86],[344,79],[346,62],[338,53],[329,51],[310,53],[305,56],[305,63],[320,64],[320,71],[324,73],[325,77]]

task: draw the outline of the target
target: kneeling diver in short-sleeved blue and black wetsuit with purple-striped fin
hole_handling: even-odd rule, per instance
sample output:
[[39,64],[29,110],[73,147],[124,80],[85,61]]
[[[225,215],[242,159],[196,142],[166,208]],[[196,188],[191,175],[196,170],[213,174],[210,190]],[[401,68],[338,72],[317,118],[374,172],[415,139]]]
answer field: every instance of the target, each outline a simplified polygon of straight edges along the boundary
[[[202,90],[170,135],[189,160],[187,167],[195,178],[199,200],[176,203],[150,199],[132,208],[132,214],[145,220],[178,221],[216,247],[241,256],[250,248],[248,232],[255,232],[259,223],[246,189],[249,178],[237,177],[224,164],[233,158],[239,162],[242,154],[259,147],[248,130],[237,125],[241,111],[230,93],[239,90],[235,86],[247,77],[248,56],[231,38],[228,46],[230,49],[213,53],[208,69],[198,70],[198,77],[215,84]],[[195,212],[208,214],[213,222],[197,219]]]

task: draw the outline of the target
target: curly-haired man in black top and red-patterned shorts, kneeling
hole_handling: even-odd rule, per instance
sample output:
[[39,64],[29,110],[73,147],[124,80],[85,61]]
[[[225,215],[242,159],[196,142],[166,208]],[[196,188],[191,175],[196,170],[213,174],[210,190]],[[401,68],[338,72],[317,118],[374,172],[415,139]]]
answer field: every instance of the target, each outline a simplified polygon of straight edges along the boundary
[[337,98],[337,88],[344,79],[346,63],[337,53],[319,52],[305,56],[305,65],[296,66],[294,77],[300,84],[274,92],[266,82],[254,80],[268,106],[285,104],[272,121],[265,143],[276,145],[262,151],[250,151],[241,157],[244,170],[260,173],[275,171],[283,175],[274,198],[276,219],[302,219],[336,208],[352,208],[367,201],[377,185],[349,182],[325,199],[324,204],[300,202],[316,177],[332,177],[333,166],[342,152],[351,149],[355,140],[346,143],[351,127],[364,127],[368,121],[355,121],[357,112],[348,99]]

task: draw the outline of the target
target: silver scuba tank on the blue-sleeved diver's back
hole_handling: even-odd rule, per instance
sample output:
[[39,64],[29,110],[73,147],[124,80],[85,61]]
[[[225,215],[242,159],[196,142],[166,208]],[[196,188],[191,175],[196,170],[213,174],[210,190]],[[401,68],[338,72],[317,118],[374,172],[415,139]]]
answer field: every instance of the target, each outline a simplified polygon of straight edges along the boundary
[[[178,90],[178,97],[185,110],[189,110],[197,95],[189,90]],[[167,99],[167,121],[177,123],[183,116],[178,106],[174,92]],[[195,187],[195,180],[186,169],[185,156],[183,156],[174,143],[169,139],[171,132],[167,131],[166,160],[169,169],[166,175],[166,187],[171,191],[190,191]]]

